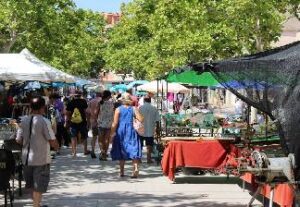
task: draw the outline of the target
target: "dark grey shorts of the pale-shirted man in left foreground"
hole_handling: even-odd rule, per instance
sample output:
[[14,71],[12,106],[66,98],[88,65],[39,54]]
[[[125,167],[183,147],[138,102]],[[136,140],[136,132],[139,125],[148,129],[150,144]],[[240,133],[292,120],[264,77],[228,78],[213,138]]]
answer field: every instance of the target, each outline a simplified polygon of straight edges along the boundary
[[50,181],[50,164],[24,166],[25,187],[36,192],[46,193]]

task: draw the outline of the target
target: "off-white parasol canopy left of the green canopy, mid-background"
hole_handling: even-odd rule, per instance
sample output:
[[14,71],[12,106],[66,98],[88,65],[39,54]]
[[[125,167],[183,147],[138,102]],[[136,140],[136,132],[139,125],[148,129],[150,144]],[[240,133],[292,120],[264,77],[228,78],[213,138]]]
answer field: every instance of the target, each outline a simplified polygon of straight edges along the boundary
[[172,93],[189,93],[190,89],[179,83],[167,83],[165,80],[151,81],[137,87],[138,91],[147,91],[151,93],[172,92]]

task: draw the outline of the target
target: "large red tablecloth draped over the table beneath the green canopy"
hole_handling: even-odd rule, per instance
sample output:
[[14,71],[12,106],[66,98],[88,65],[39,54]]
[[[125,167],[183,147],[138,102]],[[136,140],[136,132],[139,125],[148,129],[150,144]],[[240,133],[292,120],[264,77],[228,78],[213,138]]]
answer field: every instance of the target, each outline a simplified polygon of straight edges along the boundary
[[234,165],[238,150],[228,141],[170,141],[162,158],[162,170],[170,180],[178,167],[220,169],[226,163]]

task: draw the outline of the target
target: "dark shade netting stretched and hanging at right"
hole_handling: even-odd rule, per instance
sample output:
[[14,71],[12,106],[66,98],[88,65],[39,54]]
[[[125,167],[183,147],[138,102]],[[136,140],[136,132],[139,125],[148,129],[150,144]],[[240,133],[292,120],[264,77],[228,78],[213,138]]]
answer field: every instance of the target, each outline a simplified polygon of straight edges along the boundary
[[[255,55],[192,67],[198,71],[210,71],[224,88],[276,120],[282,148],[287,154],[295,154],[299,171],[300,42]],[[243,90],[232,86],[232,81],[243,86]],[[297,175],[300,178],[300,174]]]

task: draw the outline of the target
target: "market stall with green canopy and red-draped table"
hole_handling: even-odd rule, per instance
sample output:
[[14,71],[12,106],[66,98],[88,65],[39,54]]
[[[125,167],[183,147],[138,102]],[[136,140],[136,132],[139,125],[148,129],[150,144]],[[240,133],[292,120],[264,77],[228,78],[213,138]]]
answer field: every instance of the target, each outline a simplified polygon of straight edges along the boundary
[[[174,69],[164,78],[170,84],[178,82],[202,89],[219,84],[210,72],[201,73],[188,66]],[[164,174],[174,180],[179,168],[231,173],[229,165],[235,166],[234,158],[237,157],[237,148],[233,144],[235,137],[221,136],[222,123],[213,111],[197,105],[197,101],[191,102],[196,102],[195,108],[192,108],[194,105],[188,109],[183,107],[184,113],[163,115],[165,129],[161,139],[167,143],[162,159]]]

